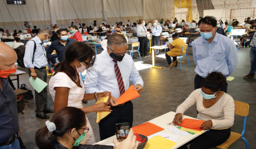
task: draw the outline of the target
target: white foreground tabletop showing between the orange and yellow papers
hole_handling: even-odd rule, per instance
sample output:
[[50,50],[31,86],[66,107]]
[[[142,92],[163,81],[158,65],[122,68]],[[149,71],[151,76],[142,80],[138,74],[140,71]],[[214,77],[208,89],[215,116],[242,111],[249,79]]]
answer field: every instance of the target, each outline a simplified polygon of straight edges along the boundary
[[[154,51],[154,50],[153,50]],[[160,115],[159,117],[156,117],[155,119],[149,120],[150,123],[158,125],[159,127],[162,127],[163,129],[167,129],[170,127],[170,122],[174,119],[175,112],[168,112],[164,115]],[[187,115],[183,115],[184,118],[189,118],[189,119],[195,119],[193,117],[189,117]],[[176,135],[175,133],[171,133],[168,130],[162,130],[164,133],[170,133],[172,135]],[[202,133],[206,132],[206,130],[203,130]],[[177,140],[177,144],[172,148],[179,148],[185,143],[189,142],[190,140],[193,140],[194,138],[198,137],[199,134],[195,133],[194,135],[188,134],[185,137],[180,136],[180,138]],[[102,140],[101,142],[97,142],[96,144],[98,145],[113,145],[113,140],[116,138],[116,135],[113,135],[112,137],[106,138],[105,140]]]

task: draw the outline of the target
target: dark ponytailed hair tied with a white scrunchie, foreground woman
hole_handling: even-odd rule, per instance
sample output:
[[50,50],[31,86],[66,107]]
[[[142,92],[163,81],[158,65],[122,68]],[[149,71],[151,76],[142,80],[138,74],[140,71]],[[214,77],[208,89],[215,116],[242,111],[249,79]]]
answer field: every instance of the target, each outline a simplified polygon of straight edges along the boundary
[[52,148],[51,141],[56,140],[56,137],[62,137],[74,128],[81,129],[86,124],[86,115],[76,107],[63,107],[53,115],[51,122],[56,125],[51,137],[46,126],[36,132],[35,140],[39,149]]

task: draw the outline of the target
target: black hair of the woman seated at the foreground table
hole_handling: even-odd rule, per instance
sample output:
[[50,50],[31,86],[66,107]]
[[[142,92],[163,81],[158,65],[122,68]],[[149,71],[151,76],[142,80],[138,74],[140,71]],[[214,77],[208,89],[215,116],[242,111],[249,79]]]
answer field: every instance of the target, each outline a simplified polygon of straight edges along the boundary
[[212,72],[206,76],[202,81],[202,86],[204,88],[210,89],[211,91],[218,91],[226,82],[225,76],[220,72]]

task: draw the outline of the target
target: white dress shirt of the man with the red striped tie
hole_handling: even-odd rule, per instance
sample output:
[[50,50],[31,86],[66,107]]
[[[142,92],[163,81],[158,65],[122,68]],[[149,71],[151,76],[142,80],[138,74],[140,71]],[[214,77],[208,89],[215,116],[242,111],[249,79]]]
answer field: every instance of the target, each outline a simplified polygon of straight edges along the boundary
[[[120,96],[114,69],[114,61],[112,60],[113,59],[109,56],[107,50],[104,50],[101,54],[96,56],[94,65],[86,72],[84,85],[87,94],[110,91],[112,96],[116,97],[116,99]],[[135,68],[134,61],[130,55],[126,54],[122,61],[117,61],[117,65],[121,71],[124,88],[126,90],[130,86],[130,81],[134,85],[144,85],[142,78],[139,75],[139,71]]]

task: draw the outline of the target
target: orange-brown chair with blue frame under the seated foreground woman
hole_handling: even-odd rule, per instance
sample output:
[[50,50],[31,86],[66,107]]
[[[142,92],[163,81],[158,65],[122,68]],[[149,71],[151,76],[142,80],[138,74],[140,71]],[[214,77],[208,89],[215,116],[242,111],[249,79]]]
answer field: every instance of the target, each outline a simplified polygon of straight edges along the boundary
[[222,149],[229,148],[229,146],[232,145],[237,140],[239,140],[239,138],[242,138],[245,141],[246,149],[249,149],[248,142],[247,142],[246,138],[244,138],[244,133],[245,133],[245,129],[246,129],[246,120],[247,120],[247,116],[249,114],[249,104],[247,104],[245,102],[235,101],[235,114],[244,117],[242,133],[240,134],[237,132],[231,132],[230,137],[227,139],[227,141],[225,141],[224,143],[219,145],[217,148],[222,148]]

